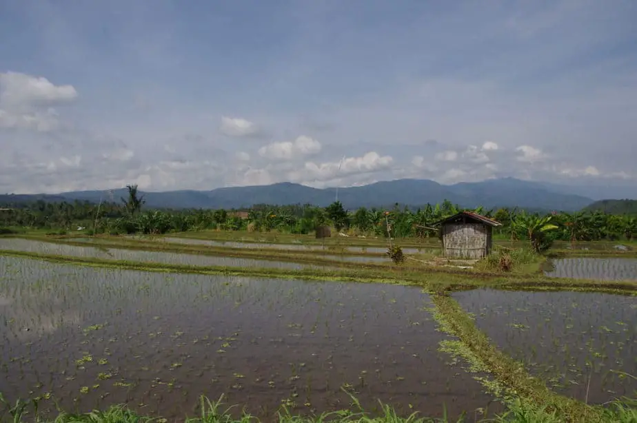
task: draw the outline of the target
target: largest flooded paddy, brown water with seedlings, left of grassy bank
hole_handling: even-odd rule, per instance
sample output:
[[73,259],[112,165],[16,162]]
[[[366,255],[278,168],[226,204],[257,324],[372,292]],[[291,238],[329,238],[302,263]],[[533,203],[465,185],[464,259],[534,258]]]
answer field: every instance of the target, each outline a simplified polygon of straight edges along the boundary
[[[0,257],[0,391],[170,419],[222,393],[271,419],[380,399],[441,416],[489,395],[438,351],[413,287],[159,274]],[[28,329],[28,330],[27,330]],[[52,409],[50,402],[41,406]]]

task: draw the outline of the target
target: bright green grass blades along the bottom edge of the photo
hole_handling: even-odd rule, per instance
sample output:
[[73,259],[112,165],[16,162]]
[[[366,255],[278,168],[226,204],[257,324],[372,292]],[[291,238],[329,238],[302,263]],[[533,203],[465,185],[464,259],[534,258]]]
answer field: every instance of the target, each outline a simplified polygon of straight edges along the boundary
[[[351,396],[351,395],[350,395]],[[185,423],[257,423],[260,420],[247,411],[241,411],[239,417],[233,417],[230,411],[235,406],[222,409],[222,397],[217,401],[210,401],[205,396],[200,398],[200,411],[196,417],[185,416]],[[417,412],[401,417],[396,413],[392,406],[381,403],[383,413],[381,415],[372,416],[366,413],[356,398],[352,397],[353,405],[359,411],[339,410],[321,413],[314,416],[292,415],[289,409],[283,407],[275,419],[279,423],[450,423],[447,417],[446,409],[441,418],[421,417]],[[162,417],[147,417],[139,415],[123,405],[110,406],[105,411],[91,411],[90,413],[72,414],[60,411],[57,417],[51,419],[43,418],[37,411],[37,401],[31,402],[18,400],[15,406],[9,404],[2,398],[0,394],[0,403],[6,405],[6,410],[0,412],[0,422],[13,423],[168,423],[168,420]],[[28,411],[28,406],[32,404],[34,411]],[[456,423],[465,422],[464,415],[455,420]],[[547,409],[531,409],[525,406],[523,402],[517,400],[509,404],[509,410],[502,415],[497,415],[492,419],[480,420],[481,422],[494,423],[562,423],[556,413],[550,413]],[[637,400],[623,399],[622,401],[612,402],[600,418],[590,420],[591,422],[600,423],[637,423]]]

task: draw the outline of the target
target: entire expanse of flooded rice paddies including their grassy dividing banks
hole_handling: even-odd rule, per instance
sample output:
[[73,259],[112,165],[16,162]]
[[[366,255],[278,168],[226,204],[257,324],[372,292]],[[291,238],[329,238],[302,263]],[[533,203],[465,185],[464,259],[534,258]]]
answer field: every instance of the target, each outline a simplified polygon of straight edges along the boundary
[[[0,393],[41,398],[48,415],[56,404],[126,404],[176,421],[196,413],[200,395],[223,394],[239,404],[236,415],[246,406],[269,421],[281,406],[300,415],[351,409],[349,392],[372,413],[380,400],[400,415],[478,421],[512,407],[514,392],[581,421],[597,413],[587,404],[637,395],[636,297],[555,291],[634,293],[637,259],[567,256],[545,275],[572,285],[536,269],[520,288],[552,291],[498,291],[488,287],[516,289],[520,276],[398,267],[384,241],[49,241],[0,237],[0,250],[32,254],[0,254]],[[259,277],[228,276],[246,268]],[[476,287],[487,289],[454,292]]]

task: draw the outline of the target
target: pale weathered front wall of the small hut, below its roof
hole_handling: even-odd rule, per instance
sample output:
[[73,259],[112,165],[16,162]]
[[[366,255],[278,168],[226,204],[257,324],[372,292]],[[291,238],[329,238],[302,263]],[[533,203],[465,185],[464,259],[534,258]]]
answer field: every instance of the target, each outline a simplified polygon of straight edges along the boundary
[[491,227],[481,223],[443,225],[443,248],[449,258],[478,259],[491,250]]

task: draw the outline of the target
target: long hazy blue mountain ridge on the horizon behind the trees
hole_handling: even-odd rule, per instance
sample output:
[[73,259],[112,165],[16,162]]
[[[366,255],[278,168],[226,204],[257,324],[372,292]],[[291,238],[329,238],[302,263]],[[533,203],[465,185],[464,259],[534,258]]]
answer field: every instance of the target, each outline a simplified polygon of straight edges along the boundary
[[[449,200],[462,207],[520,207],[573,211],[594,202],[591,198],[559,192],[546,183],[515,178],[483,180],[475,183],[441,185],[427,179],[386,180],[359,187],[338,188],[338,200],[344,207],[383,207],[398,203],[422,206]],[[248,187],[224,187],[212,191],[180,190],[140,192],[151,208],[240,209],[255,204],[312,204],[325,207],[336,198],[336,188],[318,189],[296,183],[275,183]],[[126,189],[115,189],[113,198],[119,202]],[[0,204],[24,200],[88,200],[97,203],[110,200],[108,191],[63,192],[60,194],[0,195]]]

